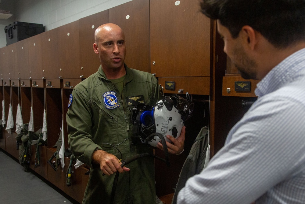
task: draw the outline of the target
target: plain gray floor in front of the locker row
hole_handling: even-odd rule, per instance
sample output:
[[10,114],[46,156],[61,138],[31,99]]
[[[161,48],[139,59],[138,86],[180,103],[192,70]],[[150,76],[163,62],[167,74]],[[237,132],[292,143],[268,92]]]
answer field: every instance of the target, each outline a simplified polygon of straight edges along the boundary
[[1,204],[72,204],[58,191],[0,150]]

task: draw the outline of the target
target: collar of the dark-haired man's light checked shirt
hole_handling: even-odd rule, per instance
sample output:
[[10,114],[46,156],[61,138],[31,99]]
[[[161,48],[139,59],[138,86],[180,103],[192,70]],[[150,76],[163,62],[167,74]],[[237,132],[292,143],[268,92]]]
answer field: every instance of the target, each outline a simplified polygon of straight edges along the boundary
[[257,83],[255,94],[263,96],[271,93],[286,83],[292,82],[297,73],[305,70],[305,48],[296,51],[276,65]]

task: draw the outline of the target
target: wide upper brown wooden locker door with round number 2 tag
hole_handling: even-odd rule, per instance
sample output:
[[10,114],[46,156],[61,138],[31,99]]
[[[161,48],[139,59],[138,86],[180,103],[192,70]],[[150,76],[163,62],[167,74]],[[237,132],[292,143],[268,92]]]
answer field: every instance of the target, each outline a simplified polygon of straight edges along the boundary
[[150,0],[150,70],[156,77],[210,76],[211,20],[197,0]]

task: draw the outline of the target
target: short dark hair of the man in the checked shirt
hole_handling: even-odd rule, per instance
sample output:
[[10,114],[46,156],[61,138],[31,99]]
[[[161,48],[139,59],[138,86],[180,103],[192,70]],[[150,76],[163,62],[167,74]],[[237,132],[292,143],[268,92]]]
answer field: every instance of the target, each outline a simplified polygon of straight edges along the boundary
[[200,6],[233,38],[249,25],[279,48],[305,41],[305,0],[201,0]]

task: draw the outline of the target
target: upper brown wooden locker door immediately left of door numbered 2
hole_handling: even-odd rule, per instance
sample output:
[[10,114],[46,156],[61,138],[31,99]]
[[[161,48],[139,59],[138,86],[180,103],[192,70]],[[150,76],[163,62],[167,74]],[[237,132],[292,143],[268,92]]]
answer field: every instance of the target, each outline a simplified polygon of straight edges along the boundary
[[149,0],[133,0],[109,9],[109,23],[125,34],[128,67],[150,72]]

